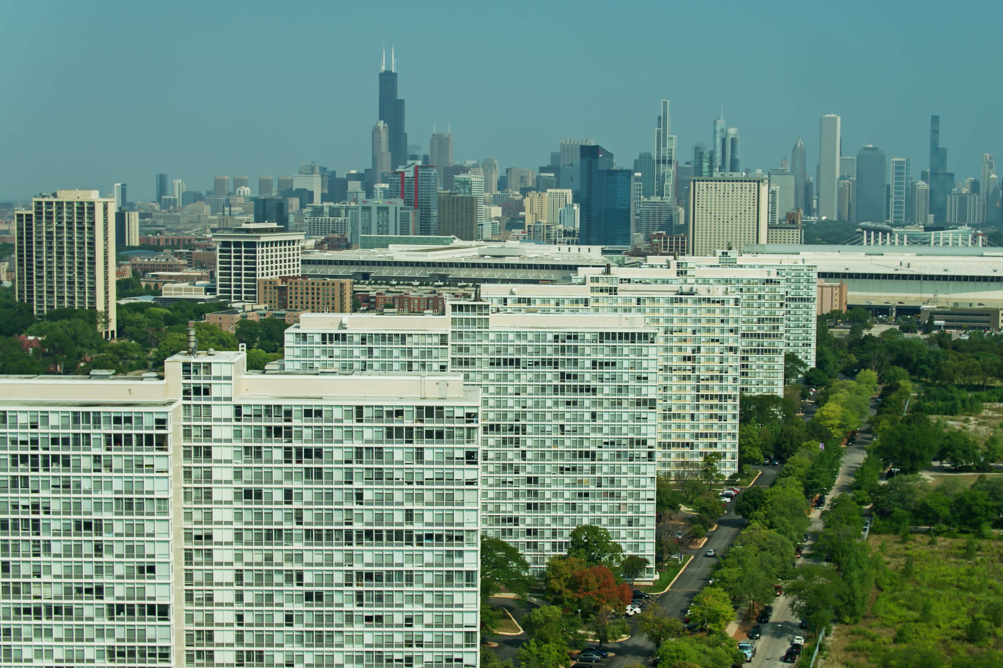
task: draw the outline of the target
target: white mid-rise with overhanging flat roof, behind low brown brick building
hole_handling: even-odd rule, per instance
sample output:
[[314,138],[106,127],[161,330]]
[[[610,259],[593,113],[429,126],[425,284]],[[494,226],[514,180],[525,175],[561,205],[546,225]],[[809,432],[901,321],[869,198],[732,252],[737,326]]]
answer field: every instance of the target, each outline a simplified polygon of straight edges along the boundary
[[260,303],[258,279],[300,275],[303,232],[270,222],[216,232],[216,290],[230,301]]

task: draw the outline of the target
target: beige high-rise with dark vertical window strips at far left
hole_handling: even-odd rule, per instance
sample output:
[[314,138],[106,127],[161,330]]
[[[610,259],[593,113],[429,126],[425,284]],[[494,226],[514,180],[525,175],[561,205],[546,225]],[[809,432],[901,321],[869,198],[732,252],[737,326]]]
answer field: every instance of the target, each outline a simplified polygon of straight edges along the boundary
[[115,200],[97,190],[57,190],[15,211],[17,300],[44,315],[89,308],[115,330]]

